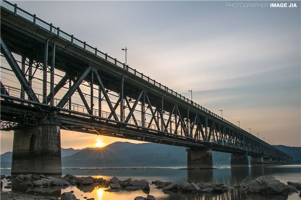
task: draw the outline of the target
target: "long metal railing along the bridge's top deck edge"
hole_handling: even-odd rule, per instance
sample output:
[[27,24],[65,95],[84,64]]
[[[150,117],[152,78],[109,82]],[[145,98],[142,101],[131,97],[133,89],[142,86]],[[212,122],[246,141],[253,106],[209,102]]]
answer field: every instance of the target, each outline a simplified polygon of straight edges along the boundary
[[[221,116],[217,115],[216,113],[206,109],[205,107],[197,104],[196,102],[188,99],[187,97],[183,96],[182,94],[179,94],[178,92],[174,91],[173,89],[170,89],[169,87],[167,87],[166,85],[161,84],[161,82],[156,81],[155,79],[149,78],[149,76],[145,76],[143,73],[138,72],[136,69],[133,69],[131,67],[129,67],[128,65],[125,65],[124,63],[118,61],[116,58],[113,58],[111,56],[109,56],[107,53],[104,53],[100,50],[98,50],[96,47],[90,46],[89,44],[87,44],[85,41],[81,41],[80,39],[74,37],[72,34],[68,34],[66,32],[64,32],[63,30],[61,30],[59,27],[55,27],[53,26],[52,23],[47,23],[46,21],[38,18],[35,14],[31,14],[25,10],[23,10],[22,8],[18,7],[17,4],[13,4],[9,1],[6,0],[1,0],[1,7],[6,9],[9,12],[12,12],[13,14],[31,22],[34,23],[36,26],[51,32],[52,34],[57,35],[58,37],[60,37],[61,39],[64,39],[67,42],[72,43],[73,45],[78,46],[79,48],[82,48],[83,50],[94,54],[95,56],[104,59],[108,62],[110,62],[111,64],[115,65],[116,67],[122,68],[125,71],[140,77],[141,79],[149,82],[150,84],[153,84],[163,90],[165,90],[166,92],[184,100],[185,102],[188,102],[190,104],[192,104],[193,106],[201,109],[202,111],[208,113],[209,115],[218,118],[219,120],[237,128],[240,129],[242,132],[244,132],[245,134],[248,134],[250,136],[254,136],[252,134],[250,134],[249,132],[247,132],[246,130],[241,129],[240,127],[238,127],[237,125],[233,124],[232,122],[222,118]],[[254,136],[255,137],[255,136]]]

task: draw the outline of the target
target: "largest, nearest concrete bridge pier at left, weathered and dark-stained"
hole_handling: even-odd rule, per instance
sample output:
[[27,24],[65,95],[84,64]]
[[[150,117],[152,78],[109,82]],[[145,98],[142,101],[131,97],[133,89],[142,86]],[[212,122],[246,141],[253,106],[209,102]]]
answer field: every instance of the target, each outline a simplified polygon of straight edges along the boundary
[[45,120],[15,130],[12,174],[62,174],[60,125]]

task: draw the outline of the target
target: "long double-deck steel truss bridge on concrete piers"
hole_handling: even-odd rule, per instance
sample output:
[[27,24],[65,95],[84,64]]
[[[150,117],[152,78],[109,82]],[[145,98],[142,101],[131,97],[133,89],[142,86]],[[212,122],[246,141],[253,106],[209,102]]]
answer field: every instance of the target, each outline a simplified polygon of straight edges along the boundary
[[60,130],[187,147],[188,168],[285,163],[289,155],[161,82],[1,0],[1,129],[12,173],[61,173]]

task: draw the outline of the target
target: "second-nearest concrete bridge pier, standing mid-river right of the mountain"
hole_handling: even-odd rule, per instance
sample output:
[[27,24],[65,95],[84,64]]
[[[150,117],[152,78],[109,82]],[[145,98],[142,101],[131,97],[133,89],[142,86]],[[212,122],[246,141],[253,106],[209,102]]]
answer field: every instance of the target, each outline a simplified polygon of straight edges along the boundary
[[212,149],[187,150],[187,168],[213,168]]

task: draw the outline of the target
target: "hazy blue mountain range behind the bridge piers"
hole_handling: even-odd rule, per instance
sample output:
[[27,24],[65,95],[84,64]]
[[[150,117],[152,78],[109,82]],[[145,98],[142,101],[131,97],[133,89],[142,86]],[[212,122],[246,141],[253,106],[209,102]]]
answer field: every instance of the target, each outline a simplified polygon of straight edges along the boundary
[[[301,159],[301,147],[274,145]],[[158,143],[114,142],[101,148],[61,148],[63,167],[185,166],[185,147]],[[12,152],[0,155],[1,167],[11,167]],[[213,164],[230,164],[231,154],[213,151]]]

